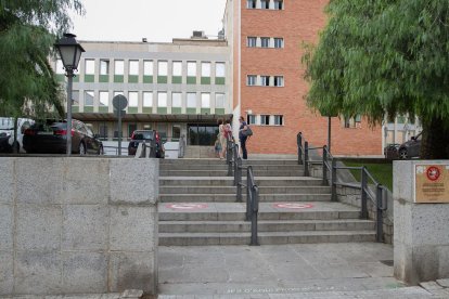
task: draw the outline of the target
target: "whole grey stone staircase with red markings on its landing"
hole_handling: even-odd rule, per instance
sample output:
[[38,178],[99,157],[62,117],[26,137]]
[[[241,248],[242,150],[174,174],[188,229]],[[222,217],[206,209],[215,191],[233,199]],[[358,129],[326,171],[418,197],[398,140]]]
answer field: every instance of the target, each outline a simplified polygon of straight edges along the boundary
[[[332,203],[330,187],[303,177],[296,160],[244,165],[253,166],[260,187],[260,244],[374,240],[374,223],[360,220],[358,208]],[[233,178],[226,174],[219,159],[161,160],[159,245],[249,243],[246,205],[235,203]]]

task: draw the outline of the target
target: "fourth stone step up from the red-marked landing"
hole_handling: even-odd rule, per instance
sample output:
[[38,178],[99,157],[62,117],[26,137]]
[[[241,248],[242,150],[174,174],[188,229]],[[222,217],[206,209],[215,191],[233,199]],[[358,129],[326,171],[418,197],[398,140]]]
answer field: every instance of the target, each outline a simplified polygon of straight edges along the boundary
[[[161,177],[227,177],[228,170],[164,170],[161,169]],[[246,177],[246,172],[243,172]],[[273,170],[254,170],[255,177],[300,177],[304,176],[302,170],[273,169]]]

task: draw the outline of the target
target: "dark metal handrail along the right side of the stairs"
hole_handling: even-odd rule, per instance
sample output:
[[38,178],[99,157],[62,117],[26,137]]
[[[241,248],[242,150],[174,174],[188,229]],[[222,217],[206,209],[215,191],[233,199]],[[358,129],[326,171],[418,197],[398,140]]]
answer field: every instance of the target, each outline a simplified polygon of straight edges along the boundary
[[[304,141],[304,145],[303,145]],[[303,133],[297,134],[297,145],[298,145],[298,164],[304,165],[304,176],[310,177],[310,164],[319,161],[322,164],[322,184],[331,185],[331,200],[337,202],[337,186],[345,186],[350,188],[356,188],[361,191],[361,204],[360,204],[360,218],[369,219],[368,213],[368,199],[370,199],[376,209],[375,221],[376,221],[376,240],[383,242],[383,217],[384,211],[387,209],[387,196],[386,187],[379,183],[374,177],[368,171],[368,169],[362,167],[346,167],[337,166],[337,159],[332,156],[331,152],[328,150],[326,145],[310,147],[309,143],[304,140]],[[310,151],[322,151],[321,161],[310,159]],[[304,158],[303,158],[304,156]],[[337,170],[360,170],[360,184],[357,183],[347,183],[337,180]],[[330,178],[329,178],[330,177]],[[371,190],[370,186],[374,186],[375,192]]]

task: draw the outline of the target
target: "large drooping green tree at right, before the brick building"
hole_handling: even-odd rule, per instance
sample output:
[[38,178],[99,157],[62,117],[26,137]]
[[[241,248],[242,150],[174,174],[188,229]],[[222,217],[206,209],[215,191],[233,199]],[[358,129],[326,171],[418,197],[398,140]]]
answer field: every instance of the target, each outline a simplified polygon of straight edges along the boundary
[[449,1],[331,0],[303,62],[323,115],[419,116],[422,158],[449,158]]

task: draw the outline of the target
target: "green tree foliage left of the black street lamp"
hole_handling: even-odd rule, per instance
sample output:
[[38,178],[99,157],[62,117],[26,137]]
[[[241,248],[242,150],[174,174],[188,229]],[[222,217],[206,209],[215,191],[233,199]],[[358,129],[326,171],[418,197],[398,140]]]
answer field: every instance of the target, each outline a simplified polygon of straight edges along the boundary
[[56,36],[72,24],[79,0],[0,0],[0,114],[18,117],[33,103],[35,116],[54,106],[63,116],[62,92],[49,64]]

